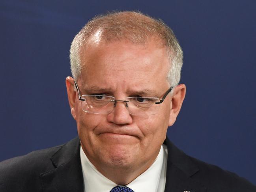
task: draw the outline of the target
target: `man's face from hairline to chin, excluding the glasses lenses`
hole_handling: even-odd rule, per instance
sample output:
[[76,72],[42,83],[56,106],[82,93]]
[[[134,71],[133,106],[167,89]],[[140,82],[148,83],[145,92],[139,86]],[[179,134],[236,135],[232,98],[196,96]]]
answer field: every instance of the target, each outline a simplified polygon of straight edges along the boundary
[[[170,88],[166,48],[155,41],[146,45],[91,41],[81,61],[84,69],[77,80],[81,94],[105,93],[116,100],[129,96],[161,99]],[[90,114],[82,111],[81,102],[76,93],[71,112],[82,149],[100,171],[104,166],[130,170],[150,166],[176,118],[170,94],[157,104],[157,114],[146,117],[129,114],[123,102],[117,102],[110,114]]]

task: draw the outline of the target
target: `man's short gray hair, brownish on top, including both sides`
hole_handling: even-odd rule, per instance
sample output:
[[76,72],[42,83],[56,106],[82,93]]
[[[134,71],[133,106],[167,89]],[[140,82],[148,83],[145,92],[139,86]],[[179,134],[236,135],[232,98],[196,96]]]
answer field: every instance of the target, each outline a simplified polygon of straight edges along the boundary
[[[156,38],[166,47],[170,68],[167,80],[170,86],[179,84],[183,52],[172,30],[160,19],[154,19],[136,11],[112,12],[99,15],[90,20],[73,39],[70,48],[70,65],[73,78],[77,80],[82,71],[80,60],[81,47],[95,32],[101,32],[101,41],[127,40],[131,43],[145,44]],[[158,41],[157,41],[158,42]]]

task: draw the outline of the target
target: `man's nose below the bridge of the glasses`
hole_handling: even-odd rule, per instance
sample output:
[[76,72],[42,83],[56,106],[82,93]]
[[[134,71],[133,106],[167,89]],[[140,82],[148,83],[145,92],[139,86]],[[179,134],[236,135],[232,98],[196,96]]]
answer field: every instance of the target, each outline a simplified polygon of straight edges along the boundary
[[129,107],[129,103],[122,100],[116,100],[113,104],[114,109],[110,114],[108,114],[108,121],[117,125],[131,124],[133,122],[133,118],[127,110],[127,107]]

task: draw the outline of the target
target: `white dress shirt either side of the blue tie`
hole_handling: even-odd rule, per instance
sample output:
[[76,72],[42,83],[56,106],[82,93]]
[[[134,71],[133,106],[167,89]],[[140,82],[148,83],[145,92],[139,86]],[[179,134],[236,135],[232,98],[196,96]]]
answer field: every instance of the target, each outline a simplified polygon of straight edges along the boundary
[[[110,192],[116,183],[102,175],[86,157],[80,147],[84,192]],[[131,183],[126,185],[134,192],[164,192],[167,165],[167,146],[162,145],[153,164]]]

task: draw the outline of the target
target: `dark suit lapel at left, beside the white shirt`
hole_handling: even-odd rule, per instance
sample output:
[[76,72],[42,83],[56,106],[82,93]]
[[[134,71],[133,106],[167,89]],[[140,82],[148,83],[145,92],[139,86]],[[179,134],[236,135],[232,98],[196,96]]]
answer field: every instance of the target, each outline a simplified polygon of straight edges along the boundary
[[53,170],[41,173],[43,192],[83,192],[80,141],[75,138],[51,158]]

